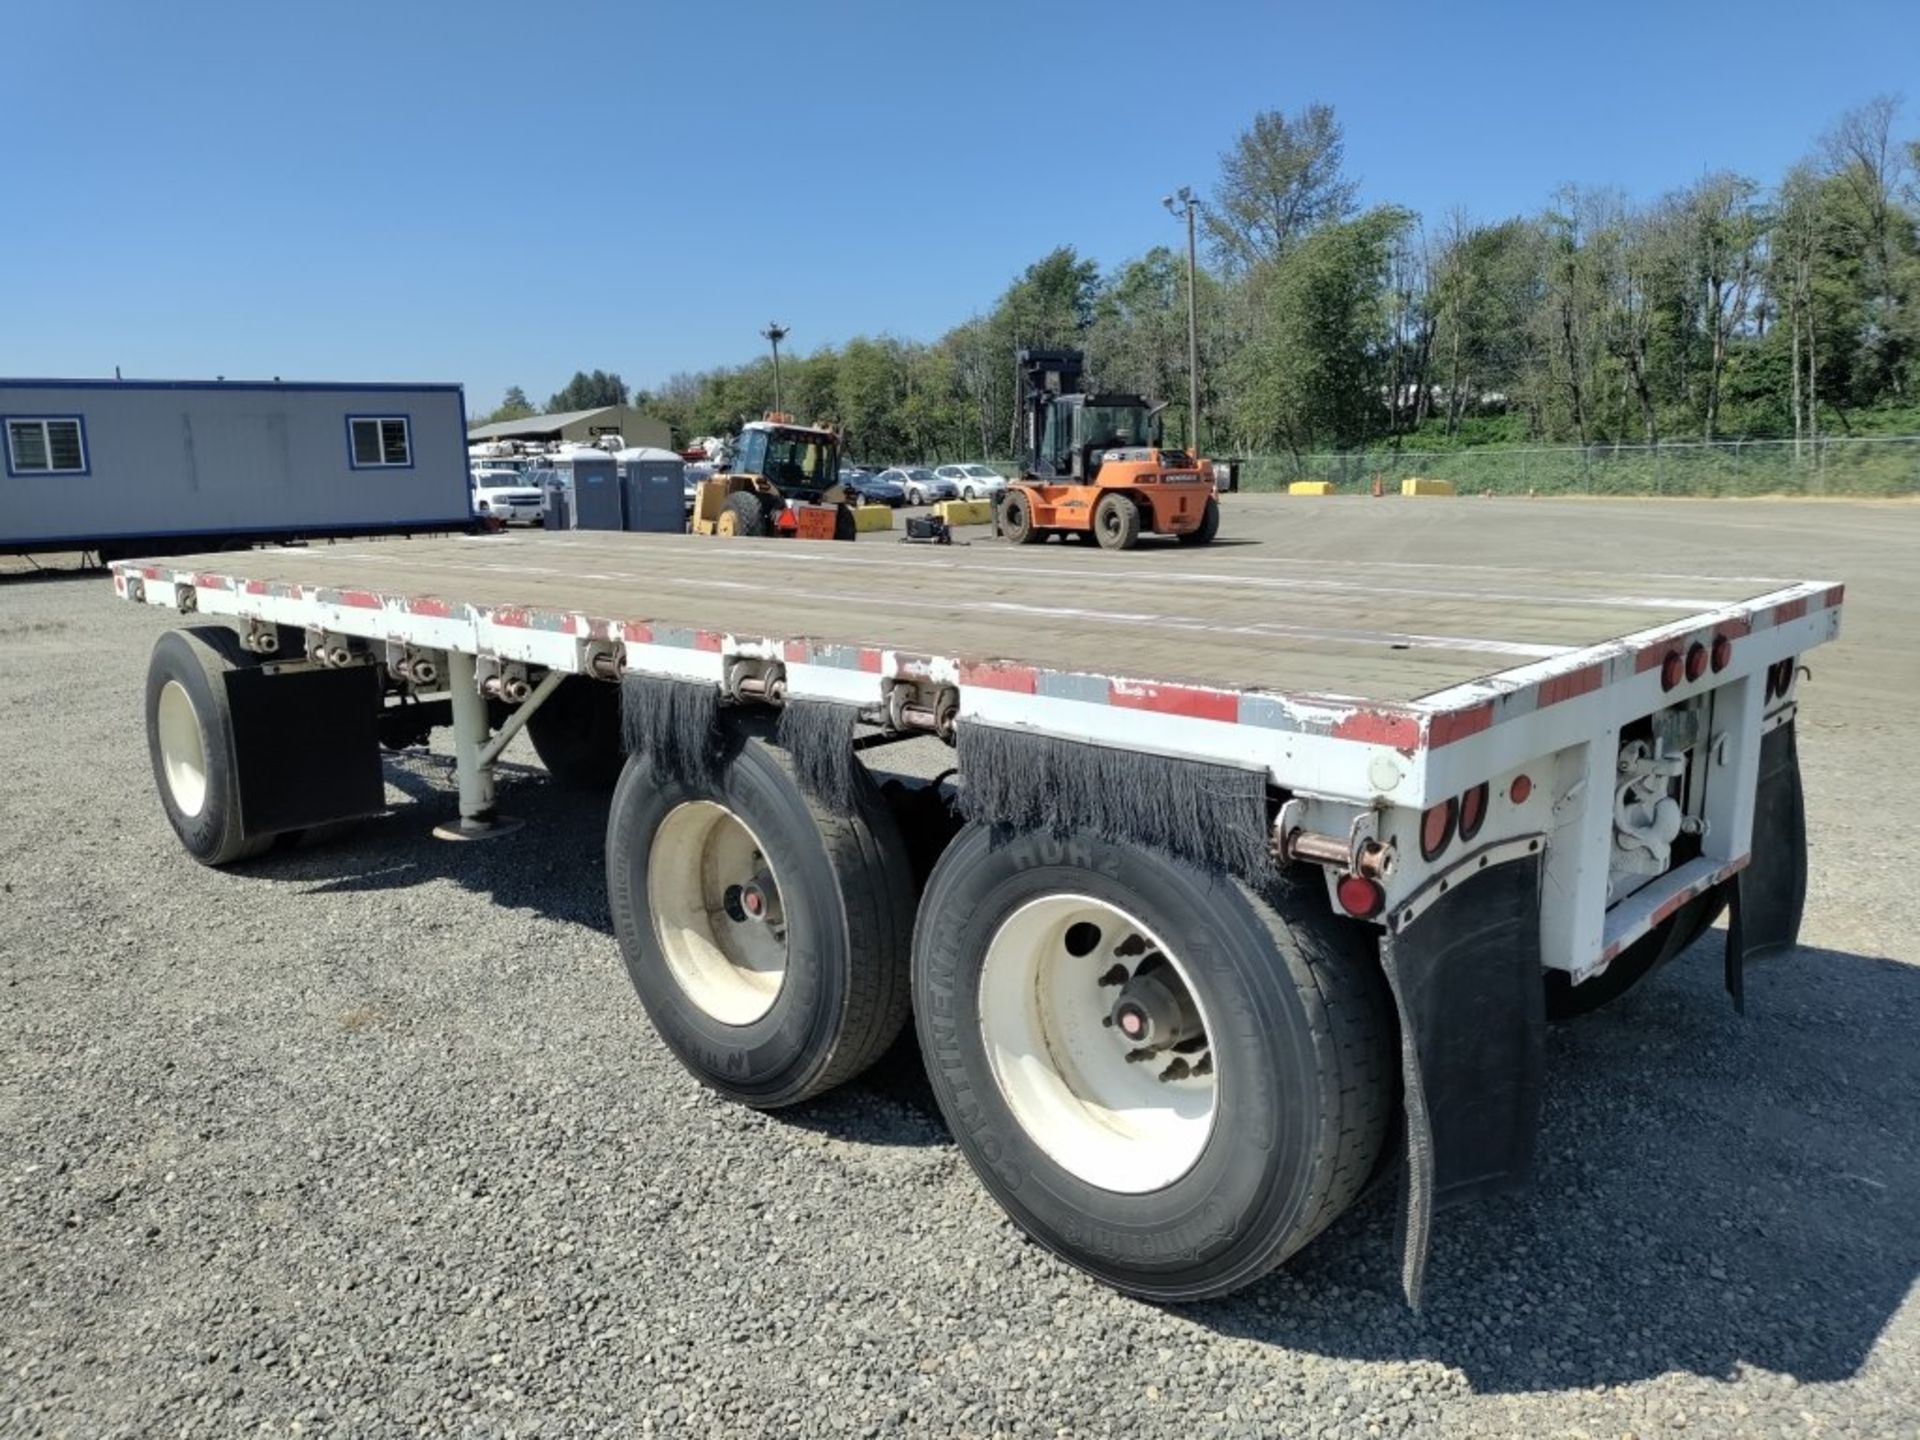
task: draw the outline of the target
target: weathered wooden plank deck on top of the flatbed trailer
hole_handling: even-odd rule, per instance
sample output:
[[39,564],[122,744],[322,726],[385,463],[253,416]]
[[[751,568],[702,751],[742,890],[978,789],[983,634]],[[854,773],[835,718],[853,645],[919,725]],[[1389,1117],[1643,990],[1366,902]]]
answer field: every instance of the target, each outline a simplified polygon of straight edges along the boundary
[[[1634,576],[1609,563],[1622,547],[1597,526],[1582,536],[1588,516],[1605,522],[1596,507],[1555,507],[1521,551],[1511,549],[1513,526],[1501,526],[1505,553],[1475,532],[1482,501],[1446,503],[1444,518],[1396,501],[1261,497],[1229,507],[1215,545],[1142,543],[1131,553],[1016,547],[985,530],[952,547],[900,543],[899,532],[849,545],[520,530],[154,564],[384,601],[434,597],[1388,705],[1793,584]],[[1546,509],[1536,509],[1540,520]],[[1425,541],[1419,526],[1432,530]],[[1407,553],[1427,559],[1394,559]]]

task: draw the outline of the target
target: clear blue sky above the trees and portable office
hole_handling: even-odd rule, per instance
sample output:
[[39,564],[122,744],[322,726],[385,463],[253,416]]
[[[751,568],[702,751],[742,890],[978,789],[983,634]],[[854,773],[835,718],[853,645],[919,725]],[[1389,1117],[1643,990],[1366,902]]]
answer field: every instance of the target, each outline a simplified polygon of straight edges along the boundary
[[1260,109],[1332,104],[1367,202],[1496,219],[1770,182],[1916,58],[1916,0],[23,2],[0,374],[647,386],[1175,242]]

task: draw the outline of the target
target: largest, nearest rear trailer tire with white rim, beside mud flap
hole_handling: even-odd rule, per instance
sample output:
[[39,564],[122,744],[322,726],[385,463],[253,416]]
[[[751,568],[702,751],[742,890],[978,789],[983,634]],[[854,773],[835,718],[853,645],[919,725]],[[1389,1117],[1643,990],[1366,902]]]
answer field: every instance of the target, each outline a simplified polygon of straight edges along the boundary
[[[1185,1050],[1127,1058],[1148,968],[1185,993],[1202,1048],[1188,1029]],[[1392,1129],[1398,1041],[1365,927],[1304,887],[1256,895],[1085,833],[960,831],[914,927],[914,1014],[941,1112],[1000,1206],[1148,1300],[1271,1271],[1354,1202]]]

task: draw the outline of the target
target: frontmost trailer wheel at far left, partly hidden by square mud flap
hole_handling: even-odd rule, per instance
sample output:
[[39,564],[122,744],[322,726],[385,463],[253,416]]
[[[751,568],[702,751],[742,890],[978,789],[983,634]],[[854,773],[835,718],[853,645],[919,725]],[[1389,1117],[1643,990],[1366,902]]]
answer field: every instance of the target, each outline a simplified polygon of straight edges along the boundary
[[173,833],[205,866],[248,860],[273,835],[240,829],[240,774],[234,758],[227,672],[257,664],[227,626],[169,630],[154,641],[146,668],[146,749],[154,787]]

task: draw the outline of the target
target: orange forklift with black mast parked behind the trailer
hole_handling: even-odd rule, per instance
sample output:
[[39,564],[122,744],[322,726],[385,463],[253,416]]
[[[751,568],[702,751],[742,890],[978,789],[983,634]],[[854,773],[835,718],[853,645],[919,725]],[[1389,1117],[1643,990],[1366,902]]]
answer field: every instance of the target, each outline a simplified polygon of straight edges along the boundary
[[1140,536],[1206,545],[1219,534],[1217,470],[1164,449],[1160,413],[1139,396],[1081,390],[1077,349],[1021,349],[1021,478],[1006,488],[995,528],[1018,545],[1092,534],[1104,549]]

